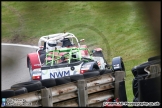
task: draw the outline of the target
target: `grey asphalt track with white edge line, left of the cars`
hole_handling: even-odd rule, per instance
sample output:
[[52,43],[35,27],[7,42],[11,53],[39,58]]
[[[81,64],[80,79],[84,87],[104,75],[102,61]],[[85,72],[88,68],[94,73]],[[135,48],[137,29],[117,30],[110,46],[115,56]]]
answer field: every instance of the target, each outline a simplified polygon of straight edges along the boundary
[[1,43],[1,90],[13,84],[30,81],[27,54],[36,52],[37,46]]

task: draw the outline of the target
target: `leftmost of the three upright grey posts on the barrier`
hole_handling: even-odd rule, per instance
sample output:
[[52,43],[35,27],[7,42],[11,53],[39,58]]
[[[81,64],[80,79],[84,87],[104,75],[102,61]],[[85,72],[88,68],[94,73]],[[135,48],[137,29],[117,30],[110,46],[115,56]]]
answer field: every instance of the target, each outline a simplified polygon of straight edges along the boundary
[[51,88],[41,89],[41,98],[43,107],[53,107]]

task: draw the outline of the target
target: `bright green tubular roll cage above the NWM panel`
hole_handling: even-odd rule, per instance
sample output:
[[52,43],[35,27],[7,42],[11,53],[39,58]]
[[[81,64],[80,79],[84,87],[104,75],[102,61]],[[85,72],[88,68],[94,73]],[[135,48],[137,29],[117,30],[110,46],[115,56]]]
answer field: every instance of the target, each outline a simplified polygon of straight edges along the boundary
[[[89,57],[83,57],[81,55],[82,50],[87,50],[89,53]],[[59,64],[59,63],[72,63],[74,61],[88,62],[94,61],[92,59],[92,54],[90,53],[88,48],[61,48],[59,50],[53,50],[46,53],[46,58],[51,57],[51,60],[46,59],[45,65]]]

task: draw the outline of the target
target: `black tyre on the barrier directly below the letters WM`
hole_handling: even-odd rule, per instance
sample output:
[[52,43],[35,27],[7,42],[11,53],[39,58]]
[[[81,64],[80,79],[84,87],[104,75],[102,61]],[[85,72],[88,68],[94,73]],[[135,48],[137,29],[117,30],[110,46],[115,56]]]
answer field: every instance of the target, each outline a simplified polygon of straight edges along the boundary
[[71,82],[71,79],[70,79],[70,76],[65,76],[62,78],[56,78],[55,81],[56,81],[56,86],[57,86],[57,85],[69,83]]

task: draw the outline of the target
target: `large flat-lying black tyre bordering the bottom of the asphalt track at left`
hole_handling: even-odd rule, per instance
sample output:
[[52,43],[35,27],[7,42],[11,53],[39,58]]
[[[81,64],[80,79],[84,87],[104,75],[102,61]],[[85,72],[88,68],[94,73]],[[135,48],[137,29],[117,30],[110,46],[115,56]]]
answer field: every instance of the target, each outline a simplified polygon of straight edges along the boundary
[[33,81],[29,81],[29,82],[23,82],[23,83],[18,83],[18,84],[12,85],[11,89],[12,88],[21,88],[21,87],[25,87],[28,92],[32,92],[35,90],[40,90],[42,88],[42,83],[40,81],[33,80]]

